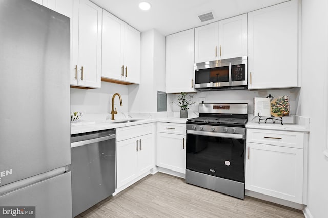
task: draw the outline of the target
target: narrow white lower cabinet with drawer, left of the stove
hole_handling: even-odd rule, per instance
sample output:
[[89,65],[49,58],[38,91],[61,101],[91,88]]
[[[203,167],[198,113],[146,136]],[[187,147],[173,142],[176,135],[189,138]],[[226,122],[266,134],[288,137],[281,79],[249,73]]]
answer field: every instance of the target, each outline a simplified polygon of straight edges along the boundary
[[[184,131],[181,132],[181,129]],[[179,173],[186,173],[186,125],[157,124],[156,165]]]

